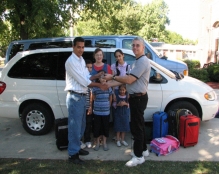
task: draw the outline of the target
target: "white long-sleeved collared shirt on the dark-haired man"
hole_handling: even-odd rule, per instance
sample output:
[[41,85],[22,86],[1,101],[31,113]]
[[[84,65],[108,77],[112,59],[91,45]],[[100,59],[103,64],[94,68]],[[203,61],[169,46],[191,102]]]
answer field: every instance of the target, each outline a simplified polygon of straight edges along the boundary
[[87,93],[90,81],[90,73],[83,57],[77,57],[74,53],[65,62],[66,87],[65,91],[73,90],[78,93]]

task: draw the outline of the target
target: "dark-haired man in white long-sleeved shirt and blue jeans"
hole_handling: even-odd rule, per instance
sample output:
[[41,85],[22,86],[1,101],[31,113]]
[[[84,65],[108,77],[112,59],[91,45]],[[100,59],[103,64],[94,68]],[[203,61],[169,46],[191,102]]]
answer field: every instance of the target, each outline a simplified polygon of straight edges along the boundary
[[[91,82],[99,78],[101,74],[90,77],[82,57],[84,52],[84,39],[76,37],[73,41],[73,53],[65,63],[66,105],[68,109],[68,155],[69,161],[75,164],[82,164],[79,155],[88,155],[89,152],[80,149],[80,140],[84,134],[86,125],[86,93],[88,87],[99,87],[104,89],[104,85]],[[106,87],[105,87],[106,88]]]

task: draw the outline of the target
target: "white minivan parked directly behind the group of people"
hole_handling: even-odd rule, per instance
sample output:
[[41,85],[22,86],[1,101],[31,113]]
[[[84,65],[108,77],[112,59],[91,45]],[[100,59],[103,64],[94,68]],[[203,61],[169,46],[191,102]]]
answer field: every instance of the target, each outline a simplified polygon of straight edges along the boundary
[[[85,48],[84,59],[92,59],[95,48]],[[115,62],[116,48],[102,48],[105,62]],[[125,61],[135,60],[131,50],[122,49]],[[19,52],[0,74],[0,116],[21,118],[24,129],[33,135],[48,133],[57,118],[67,117],[65,61],[72,48]],[[218,110],[217,96],[205,83],[180,76],[150,60],[149,101],[145,122],[156,111],[188,109],[207,121]]]

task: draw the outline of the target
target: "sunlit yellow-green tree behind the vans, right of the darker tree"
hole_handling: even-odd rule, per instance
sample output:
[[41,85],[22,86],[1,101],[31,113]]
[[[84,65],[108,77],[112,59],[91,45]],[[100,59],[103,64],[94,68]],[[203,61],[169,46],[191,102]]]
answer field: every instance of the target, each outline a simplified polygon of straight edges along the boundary
[[[103,4],[105,2],[105,4]],[[168,7],[163,0],[142,6],[132,0],[100,1],[101,10],[81,13],[78,35],[140,35],[145,39],[164,37]],[[90,24],[86,30],[86,24]]]

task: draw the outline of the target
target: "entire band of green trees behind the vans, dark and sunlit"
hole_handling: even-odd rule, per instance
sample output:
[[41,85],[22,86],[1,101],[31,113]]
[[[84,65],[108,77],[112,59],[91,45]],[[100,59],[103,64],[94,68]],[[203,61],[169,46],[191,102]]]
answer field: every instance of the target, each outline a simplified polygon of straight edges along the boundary
[[5,52],[12,40],[76,35],[139,35],[173,44],[188,44],[165,25],[168,6],[164,0],[2,0],[0,47]]

